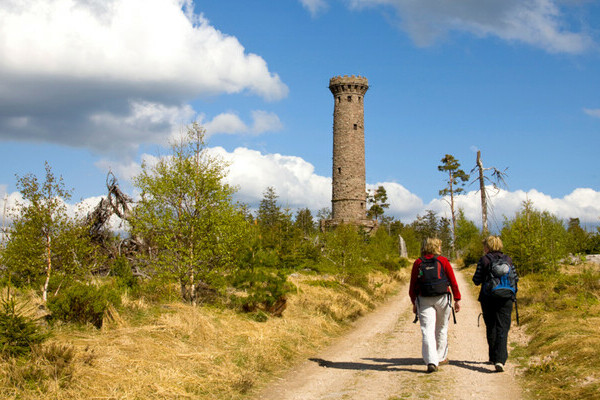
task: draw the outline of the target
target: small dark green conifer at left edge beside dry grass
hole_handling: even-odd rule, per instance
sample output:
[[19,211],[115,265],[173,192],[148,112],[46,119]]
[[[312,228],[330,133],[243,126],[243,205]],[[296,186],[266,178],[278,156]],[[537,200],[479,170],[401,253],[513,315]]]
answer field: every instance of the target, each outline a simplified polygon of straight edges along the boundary
[[32,346],[48,337],[26,309],[27,304],[17,304],[10,294],[0,297],[0,354],[11,357],[28,354]]

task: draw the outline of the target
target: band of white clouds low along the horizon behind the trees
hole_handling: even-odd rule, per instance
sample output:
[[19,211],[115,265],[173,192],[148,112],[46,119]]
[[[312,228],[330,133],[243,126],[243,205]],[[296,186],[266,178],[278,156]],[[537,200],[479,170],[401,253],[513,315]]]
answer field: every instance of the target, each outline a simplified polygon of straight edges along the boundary
[[[211,155],[230,163],[228,183],[238,187],[236,199],[253,209],[258,208],[265,189],[270,186],[275,188],[282,207],[289,207],[292,210],[307,207],[316,213],[324,207],[331,206],[331,178],[316,174],[314,166],[300,157],[262,154],[241,147],[233,152],[227,152],[222,147],[209,148],[208,151]],[[143,156],[143,160],[149,165],[155,164],[158,159],[148,154]],[[119,165],[103,162],[99,163],[99,166],[104,168],[110,166],[119,177],[122,189],[130,185],[131,178],[140,171],[140,165],[136,163]],[[399,183],[367,184],[368,189],[375,189],[378,186],[386,188],[390,203],[387,214],[404,223],[412,222],[417,215],[424,215],[426,210],[433,210],[438,215],[450,217],[450,208],[444,199],[434,199],[424,204],[422,199]],[[492,230],[501,229],[504,217],[513,218],[526,200],[531,200],[536,209],[548,211],[564,221],[569,218],[579,218],[584,226],[594,227],[600,224],[600,191],[591,188],[575,189],[563,198],[553,198],[535,189],[527,192],[522,190],[509,192],[495,191],[489,186],[487,190],[490,193],[489,226]],[[126,190],[125,192],[127,193]],[[4,207],[5,198],[9,207],[14,206],[16,201],[22,201],[19,193],[7,193],[6,186],[0,185],[0,210]],[[84,200],[83,203],[93,207],[99,199],[93,197]],[[456,209],[462,208],[468,219],[481,225],[481,197],[477,191],[456,196],[455,201]]]

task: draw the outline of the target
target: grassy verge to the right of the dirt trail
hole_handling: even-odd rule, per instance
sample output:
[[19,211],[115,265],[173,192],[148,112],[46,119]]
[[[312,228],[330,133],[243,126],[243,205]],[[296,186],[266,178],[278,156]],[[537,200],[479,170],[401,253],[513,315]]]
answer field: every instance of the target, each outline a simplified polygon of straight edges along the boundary
[[[465,271],[474,272],[474,267]],[[475,288],[475,286],[473,286]],[[476,288],[478,290],[478,288]],[[598,399],[600,393],[600,266],[563,266],[519,281],[519,316],[525,340],[514,340],[510,359],[535,399]]]

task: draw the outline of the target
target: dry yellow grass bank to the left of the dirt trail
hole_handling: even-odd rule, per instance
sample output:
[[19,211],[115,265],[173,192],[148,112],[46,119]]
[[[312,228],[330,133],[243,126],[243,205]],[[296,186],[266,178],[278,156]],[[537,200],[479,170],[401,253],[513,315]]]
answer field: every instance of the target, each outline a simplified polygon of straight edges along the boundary
[[[125,298],[126,312],[112,310],[102,330],[58,327],[45,355],[0,361],[0,398],[242,399],[393,293],[402,274],[372,275],[367,289],[295,275],[283,317],[266,322],[228,309]],[[60,373],[49,372],[58,364]]]

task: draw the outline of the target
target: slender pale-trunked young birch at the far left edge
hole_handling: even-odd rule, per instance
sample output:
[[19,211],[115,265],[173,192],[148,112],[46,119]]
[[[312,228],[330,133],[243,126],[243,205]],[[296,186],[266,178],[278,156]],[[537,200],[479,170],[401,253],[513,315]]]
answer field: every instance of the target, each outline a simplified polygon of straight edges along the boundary
[[9,240],[1,255],[4,274],[17,287],[42,287],[46,299],[54,274],[73,277],[89,271],[94,248],[83,222],[67,216],[64,201],[70,192],[48,163],[44,182],[28,174],[18,178],[17,187],[25,203],[14,210]]

